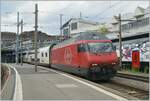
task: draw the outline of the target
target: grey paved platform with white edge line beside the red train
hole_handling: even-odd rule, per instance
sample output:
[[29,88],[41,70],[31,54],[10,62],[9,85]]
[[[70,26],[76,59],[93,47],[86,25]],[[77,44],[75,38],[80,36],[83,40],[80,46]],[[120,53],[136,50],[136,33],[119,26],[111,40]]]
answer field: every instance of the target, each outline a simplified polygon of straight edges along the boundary
[[125,100],[102,88],[52,69],[10,64],[21,77],[23,100]]

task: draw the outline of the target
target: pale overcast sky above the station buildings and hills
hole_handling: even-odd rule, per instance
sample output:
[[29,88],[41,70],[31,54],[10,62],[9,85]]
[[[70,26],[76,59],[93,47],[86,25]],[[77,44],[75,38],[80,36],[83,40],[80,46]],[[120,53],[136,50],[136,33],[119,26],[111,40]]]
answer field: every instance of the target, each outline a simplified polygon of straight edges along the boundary
[[24,31],[34,30],[34,8],[38,3],[39,30],[59,34],[59,14],[63,23],[72,17],[105,22],[118,13],[134,12],[137,6],[147,8],[148,1],[1,1],[1,31],[16,32],[17,12],[24,20]]

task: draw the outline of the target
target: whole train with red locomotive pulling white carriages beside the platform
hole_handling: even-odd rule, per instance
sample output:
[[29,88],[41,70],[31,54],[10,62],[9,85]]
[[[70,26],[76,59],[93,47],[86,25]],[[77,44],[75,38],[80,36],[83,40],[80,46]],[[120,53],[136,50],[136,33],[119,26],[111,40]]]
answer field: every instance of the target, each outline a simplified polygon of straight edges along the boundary
[[[24,62],[34,63],[34,50]],[[97,32],[81,32],[58,44],[38,49],[38,65],[48,66],[91,80],[109,80],[117,72],[118,56],[112,41]]]

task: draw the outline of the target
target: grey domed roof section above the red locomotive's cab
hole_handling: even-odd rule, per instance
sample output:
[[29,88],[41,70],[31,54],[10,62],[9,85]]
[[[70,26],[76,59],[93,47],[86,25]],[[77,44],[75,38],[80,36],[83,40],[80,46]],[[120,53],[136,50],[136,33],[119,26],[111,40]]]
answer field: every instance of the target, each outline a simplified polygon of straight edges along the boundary
[[80,40],[108,40],[108,38],[99,32],[81,32],[74,35],[76,41]]

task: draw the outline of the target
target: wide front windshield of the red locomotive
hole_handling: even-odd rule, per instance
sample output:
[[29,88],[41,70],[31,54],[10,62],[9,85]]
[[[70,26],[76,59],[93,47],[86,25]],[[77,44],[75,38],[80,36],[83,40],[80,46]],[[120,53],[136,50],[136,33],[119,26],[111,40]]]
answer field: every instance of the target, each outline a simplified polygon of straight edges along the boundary
[[113,46],[110,42],[88,43],[88,49],[91,53],[112,52]]

